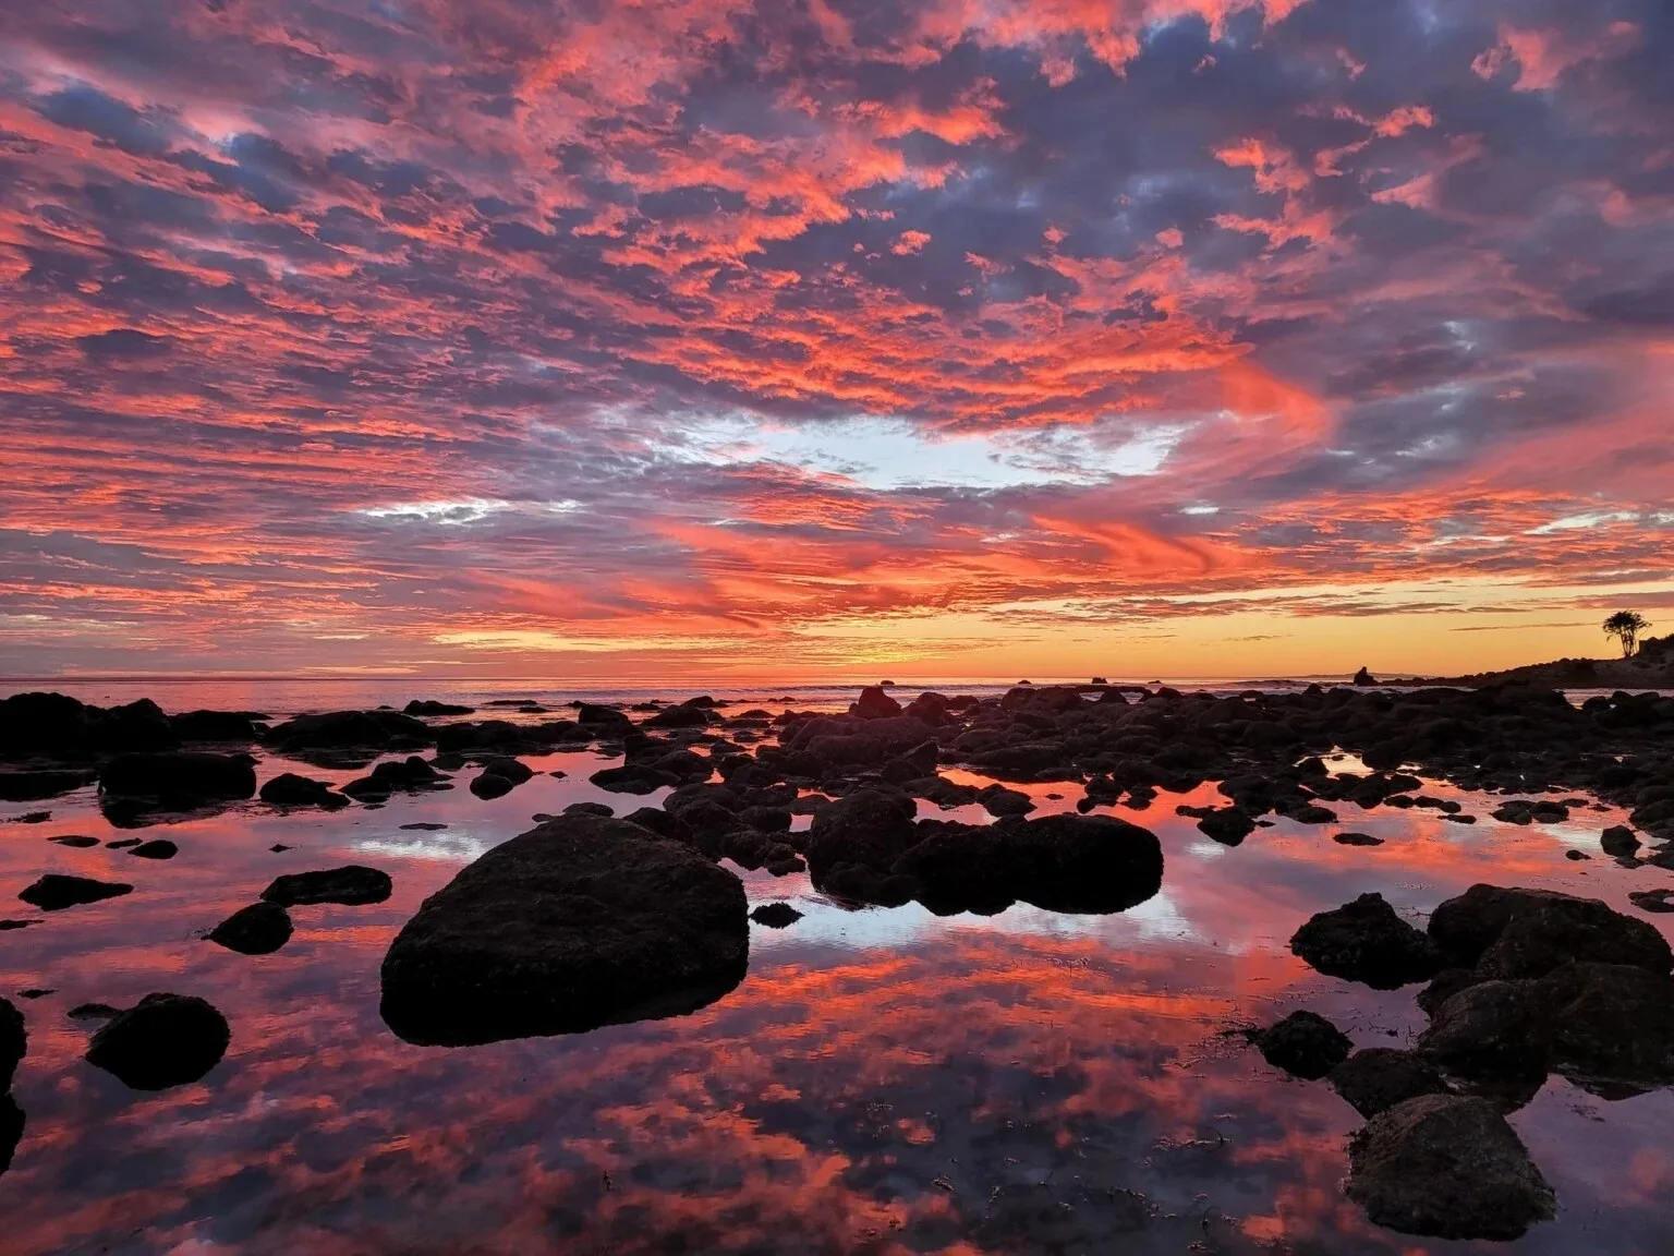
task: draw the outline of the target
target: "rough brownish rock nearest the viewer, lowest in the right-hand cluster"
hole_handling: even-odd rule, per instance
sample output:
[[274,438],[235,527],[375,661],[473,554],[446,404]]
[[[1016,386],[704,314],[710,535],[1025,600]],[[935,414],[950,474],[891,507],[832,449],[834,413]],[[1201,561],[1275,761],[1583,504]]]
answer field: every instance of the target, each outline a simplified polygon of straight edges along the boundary
[[1348,1194],[1379,1226],[1445,1239],[1515,1239],[1557,1211],[1505,1117],[1458,1095],[1373,1117],[1349,1142]]

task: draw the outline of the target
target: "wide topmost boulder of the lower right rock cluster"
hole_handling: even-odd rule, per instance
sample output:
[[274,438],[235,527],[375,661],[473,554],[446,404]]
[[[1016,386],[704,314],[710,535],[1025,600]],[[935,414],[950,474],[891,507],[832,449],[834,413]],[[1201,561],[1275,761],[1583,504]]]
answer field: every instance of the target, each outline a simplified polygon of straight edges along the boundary
[[1570,960],[1651,973],[1674,968],[1667,939],[1649,921],[1552,889],[1471,886],[1431,913],[1430,936],[1458,965],[1485,976],[1545,976]]

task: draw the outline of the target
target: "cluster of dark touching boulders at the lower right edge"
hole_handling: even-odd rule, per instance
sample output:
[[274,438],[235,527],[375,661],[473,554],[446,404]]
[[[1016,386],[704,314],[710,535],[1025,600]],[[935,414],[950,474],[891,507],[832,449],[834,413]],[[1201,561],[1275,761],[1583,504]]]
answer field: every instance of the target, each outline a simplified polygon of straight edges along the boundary
[[1430,1027],[1411,1050],[1349,1053],[1311,1011],[1249,1035],[1269,1063],[1329,1078],[1368,1119],[1349,1142],[1348,1194],[1381,1226],[1518,1238],[1555,1197],[1505,1112],[1550,1073],[1607,1100],[1674,1085],[1674,951],[1597,899],[1476,884],[1421,931],[1363,894],[1307,919],[1291,950],[1379,990],[1428,981]]

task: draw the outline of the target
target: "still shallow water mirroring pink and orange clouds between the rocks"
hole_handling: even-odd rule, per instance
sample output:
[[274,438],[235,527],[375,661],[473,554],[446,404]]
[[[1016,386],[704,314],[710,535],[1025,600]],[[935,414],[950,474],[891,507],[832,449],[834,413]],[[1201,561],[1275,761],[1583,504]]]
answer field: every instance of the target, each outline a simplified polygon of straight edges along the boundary
[[[249,804],[147,829],[179,844],[169,862],[47,842],[132,836],[102,821],[92,790],[0,806],[10,903],[0,916],[42,919],[0,933],[0,993],[30,1033],[0,1248],[1649,1256],[1674,1246],[1662,1204],[1674,1189],[1674,1095],[1605,1102],[1552,1078],[1512,1124],[1557,1189],[1557,1221],[1515,1244],[1413,1239],[1369,1224],[1343,1196],[1353,1109],[1224,1035],[1297,1006],[1358,1045],[1401,1045],[1421,1028],[1416,986],[1376,993],[1289,955],[1302,919],[1368,889],[1413,919],[1475,881],[1567,889],[1639,914],[1627,891],[1671,878],[1602,857],[1614,811],[1522,829],[1493,822],[1485,799],[1436,785],[1426,792],[1461,799],[1478,822],[1333,804],[1339,826],[1279,821],[1229,849],[1173,814],[1212,787],[1162,794],[1143,812],[1115,812],[1152,827],[1167,859],[1162,893],[1118,916],[842,911],[805,876],[747,873],[753,901],[807,914],[783,931],[752,926],[748,976],[700,1013],[410,1047],[378,1018],[378,965],[424,896],[531,827],[534,812],[603,800],[621,814],[658,799],[589,785],[613,762],[601,755],[526,762],[567,777],[537,775],[492,802],[464,789],[467,770],[459,789],[382,809],[281,816]],[[1080,797],[1065,784],[1021,789],[1043,812]],[[7,819],[37,809],[52,817]],[[447,827],[402,829],[413,822]],[[1344,847],[1336,829],[1386,844]],[[295,849],[275,854],[276,842]],[[1572,862],[1572,847],[1595,857]],[[201,939],[273,876],[340,862],[387,869],[393,898],[295,908],[296,934],[270,956]],[[136,891],[52,914],[12,901],[47,871]],[[1667,929],[1669,918],[1651,919]],[[17,996],[28,988],[52,993]],[[152,990],[201,995],[231,1022],[231,1048],[203,1082],[139,1094],[82,1062],[90,1025],[65,1013]]]

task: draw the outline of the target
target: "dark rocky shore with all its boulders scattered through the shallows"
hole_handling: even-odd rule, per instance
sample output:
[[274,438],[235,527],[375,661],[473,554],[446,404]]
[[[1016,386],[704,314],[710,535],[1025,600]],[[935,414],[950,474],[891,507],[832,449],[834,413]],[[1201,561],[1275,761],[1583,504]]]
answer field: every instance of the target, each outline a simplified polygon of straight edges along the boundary
[[[1091,812],[1122,804],[1132,816],[1163,790],[1205,784],[1220,800],[1180,814],[1229,847],[1279,817],[1324,826],[1425,809],[1475,822],[1456,800],[1428,797],[1428,777],[1497,795],[1488,807],[1507,824],[1574,819],[1602,799],[1630,822],[1600,832],[1599,857],[1674,869],[1674,698],[1657,693],[1617,690],[1575,705],[1533,683],[1234,697],[1018,685],[991,698],[926,692],[901,702],[874,687],[844,713],[737,707],[710,697],[631,712],[531,702],[509,720],[413,700],[405,710],[275,722],[25,693],[0,700],[0,799],[50,802],[94,785],[112,824],[137,827],[228,807],[378,807],[459,785],[490,800],[534,777],[521,757],[619,757],[591,775],[623,797],[619,817],[594,802],[537,816],[536,829],[432,894],[390,945],[385,1022],[412,1043],[449,1047],[576,1033],[723,998],[745,976],[752,928],[723,861],[775,876],[805,871],[847,908],[1127,911],[1162,888],[1162,844],[1140,824]],[[1344,752],[1359,764],[1333,770],[1327,757]],[[258,777],[263,760],[293,770]],[[320,770],[360,775],[335,785],[310,775]],[[1081,814],[1036,817],[1031,795],[1003,782],[1073,785]],[[658,804],[639,806],[651,794]],[[976,807],[993,822],[919,819],[921,802]],[[1334,836],[1348,847],[1378,844]],[[129,891],[49,874],[20,898],[62,911]],[[1634,903],[1666,909],[1659,894],[1647,884]],[[204,936],[268,955],[290,939],[298,904],[388,896],[390,878],[372,867],[286,874],[261,901],[208,921]],[[773,906],[757,911],[762,928],[798,918]],[[1418,1005],[1430,1028],[1411,1050],[1351,1052],[1312,1013],[1250,1035],[1276,1067],[1329,1078],[1368,1119],[1349,1147],[1348,1189],[1379,1224],[1450,1238],[1522,1233],[1552,1214],[1553,1196],[1507,1112],[1548,1073],[1605,1099],[1674,1084],[1674,956],[1649,923],[1602,903],[1483,884],[1421,929],[1363,894],[1299,923],[1292,950],[1334,980],[1425,983]],[[107,1011],[87,1058],[141,1089],[196,1080],[233,1033],[189,995]],[[15,1010],[0,1006],[0,1065],[22,1055],[22,1033]]]

